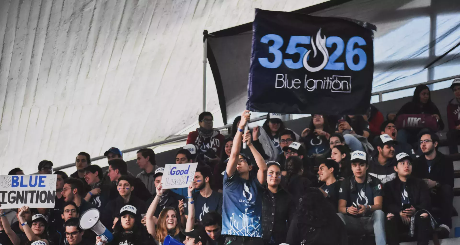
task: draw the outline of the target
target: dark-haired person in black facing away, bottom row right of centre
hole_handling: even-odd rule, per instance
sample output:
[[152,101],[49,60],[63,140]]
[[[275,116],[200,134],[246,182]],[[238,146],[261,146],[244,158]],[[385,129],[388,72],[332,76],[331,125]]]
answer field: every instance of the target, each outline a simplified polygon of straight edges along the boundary
[[308,188],[289,226],[290,245],[348,245],[344,223],[318,188]]

